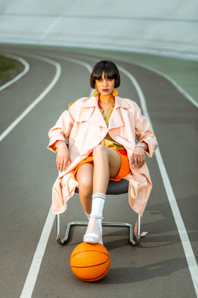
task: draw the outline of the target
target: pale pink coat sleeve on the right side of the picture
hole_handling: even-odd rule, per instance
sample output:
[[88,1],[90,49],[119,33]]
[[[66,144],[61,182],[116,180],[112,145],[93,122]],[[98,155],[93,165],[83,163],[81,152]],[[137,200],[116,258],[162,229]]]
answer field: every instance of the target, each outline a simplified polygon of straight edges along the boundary
[[148,144],[148,151],[145,152],[151,158],[158,147],[158,142],[148,119],[142,114],[137,104],[135,108],[135,137],[139,143],[144,141]]

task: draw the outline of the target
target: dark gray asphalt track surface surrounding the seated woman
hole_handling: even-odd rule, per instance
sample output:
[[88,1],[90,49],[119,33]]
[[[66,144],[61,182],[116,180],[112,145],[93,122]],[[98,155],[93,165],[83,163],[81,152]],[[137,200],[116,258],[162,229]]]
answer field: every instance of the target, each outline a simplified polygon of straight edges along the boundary
[[[24,54],[20,54],[21,51]],[[55,67],[25,54],[46,56],[61,64],[62,74],[45,98],[1,142],[0,256],[2,298],[20,297],[33,255],[51,205],[51,187],[58,175],[55,157],[47,149],[48,131],[70,102],[89,96],[89,72],[82,66],[55,58],[59,50],[30,50],[25,46],[1,46],[0,54],[23,57],[30,71],[0,92],[0,132],[25,110],[47,87]],[[77,57],[78,54],[61,55]],[[92,67],[92,61],[79,59]],[[171,185],[198,260],[198,200],[196,180],[198,156],[197,109],[164,77],[130,63],[113,60],[138,81],[147,101],[148,113],[165,162]],[[140,106],[138,94],[126,75],[120,73],[119,96]],[[111,255],[111,268],[105,278],[92,283],[77,279],[70,269],[72,250],[82,242],[85,227],[72,229],[66,246],[56,240],[54,221],[33,298],[81,297],[196,297],[181,240],[167,199],[155,155],[147,157],[153,188],[142,218],[142,231],[148,235],[132,247],[128,230],[103,227],[103,242]],[[134,224],[136,214],[128,194],[107,196],[104,221]],[[68,202],[61,215],[61,234],[66,224],[86,221],[78,195]]]

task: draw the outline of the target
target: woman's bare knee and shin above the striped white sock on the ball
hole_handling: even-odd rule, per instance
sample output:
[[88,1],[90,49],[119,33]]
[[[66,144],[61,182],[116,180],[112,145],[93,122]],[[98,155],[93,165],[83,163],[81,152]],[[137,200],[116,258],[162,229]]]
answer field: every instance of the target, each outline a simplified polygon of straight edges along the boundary
[[114,178],[120,169],[120,155],[113,149],[98,145],[93,150],[93,158],[93,193],[101,192],[106,194],[109,178]]

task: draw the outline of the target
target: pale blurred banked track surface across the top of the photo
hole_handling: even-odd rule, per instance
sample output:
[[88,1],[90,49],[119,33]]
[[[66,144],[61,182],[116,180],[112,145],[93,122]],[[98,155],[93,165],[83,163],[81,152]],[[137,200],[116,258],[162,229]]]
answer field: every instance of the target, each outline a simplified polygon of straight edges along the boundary
[[0,1],[0,42],[198,59],[196,0]]

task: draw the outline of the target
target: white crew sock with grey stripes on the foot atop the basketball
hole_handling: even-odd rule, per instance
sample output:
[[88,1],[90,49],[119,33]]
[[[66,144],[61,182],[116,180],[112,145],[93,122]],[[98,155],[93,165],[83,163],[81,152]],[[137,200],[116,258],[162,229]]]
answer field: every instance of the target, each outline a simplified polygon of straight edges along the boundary
[[[91,213],[90,215],[97,215],[99,217],[102,217],[102,211],[105,203],[106,195],[101,192],[94,193],[92,195],[92,207],[91,207]],[[99,223],[101,235],[102,235],[102,220],[97,220]]]

